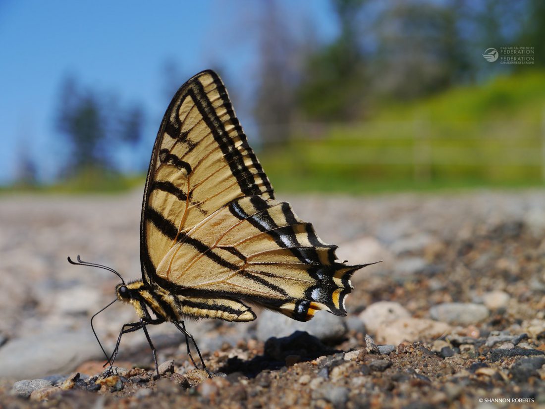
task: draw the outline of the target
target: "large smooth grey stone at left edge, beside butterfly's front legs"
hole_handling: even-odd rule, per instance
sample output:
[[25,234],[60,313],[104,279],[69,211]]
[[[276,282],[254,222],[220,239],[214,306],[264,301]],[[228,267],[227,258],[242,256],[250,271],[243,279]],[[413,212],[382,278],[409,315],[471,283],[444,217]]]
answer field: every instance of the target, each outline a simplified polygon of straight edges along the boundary
[[0,377],[32,379],[66,373],[101,357],[90,329],[18,338],[0,348]]

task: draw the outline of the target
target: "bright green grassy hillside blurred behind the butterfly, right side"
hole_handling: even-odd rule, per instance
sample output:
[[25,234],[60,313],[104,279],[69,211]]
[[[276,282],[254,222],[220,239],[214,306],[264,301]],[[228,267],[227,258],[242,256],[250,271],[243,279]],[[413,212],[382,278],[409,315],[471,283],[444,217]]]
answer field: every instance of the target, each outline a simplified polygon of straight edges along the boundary
[[545,72],[389,103],[360,124],[304,127],[260,157],[280,190],[543,184]]

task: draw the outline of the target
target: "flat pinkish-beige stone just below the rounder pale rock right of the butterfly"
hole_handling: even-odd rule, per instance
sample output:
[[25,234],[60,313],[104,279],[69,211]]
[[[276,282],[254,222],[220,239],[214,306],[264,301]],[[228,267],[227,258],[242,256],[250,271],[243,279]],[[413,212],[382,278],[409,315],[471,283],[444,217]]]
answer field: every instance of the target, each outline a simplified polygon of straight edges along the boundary
[[399,345],[403,341],[417,341],[426,338],[439,338],[451,331],[451,326],[444,322],[423,318],[401,318],[377,330],[380,343]]

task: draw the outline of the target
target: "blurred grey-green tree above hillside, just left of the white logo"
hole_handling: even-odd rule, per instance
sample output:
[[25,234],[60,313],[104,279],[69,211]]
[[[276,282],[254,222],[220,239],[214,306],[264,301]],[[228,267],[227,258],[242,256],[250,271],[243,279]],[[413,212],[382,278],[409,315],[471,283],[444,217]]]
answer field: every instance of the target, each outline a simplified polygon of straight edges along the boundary
[[445,89],[467,75],[469,62],[459,35],[464,2],[397,0],[375,22],[377,53],[373,91],[414,99]]

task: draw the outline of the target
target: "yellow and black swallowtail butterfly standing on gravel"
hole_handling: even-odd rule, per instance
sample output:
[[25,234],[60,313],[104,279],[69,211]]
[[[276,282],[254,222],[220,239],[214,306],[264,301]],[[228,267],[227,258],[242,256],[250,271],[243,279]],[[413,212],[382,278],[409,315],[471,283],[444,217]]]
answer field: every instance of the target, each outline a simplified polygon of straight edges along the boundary
[[113,302],[131,304],[138,316],[123,325],[110,357],[102,348],[110,369],[122,335],[142,329],[159,375],[146,327],[172,322],[185,334],[193,365],[189,340],[211,376],[185,319],[252,321],[251,306],[298,321],[318,310],[346,315],[350,276],[365,266],[336,261],[337,246],[324,243],[312,224],[275,200],[227,90],[210,70],[180,87],[161,122],[144,189],[140,243],[142,279],[130,283],[112,268],[69,258],[116,273],[122,283]]

